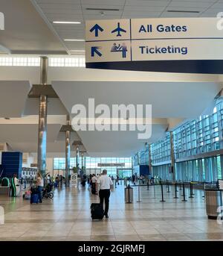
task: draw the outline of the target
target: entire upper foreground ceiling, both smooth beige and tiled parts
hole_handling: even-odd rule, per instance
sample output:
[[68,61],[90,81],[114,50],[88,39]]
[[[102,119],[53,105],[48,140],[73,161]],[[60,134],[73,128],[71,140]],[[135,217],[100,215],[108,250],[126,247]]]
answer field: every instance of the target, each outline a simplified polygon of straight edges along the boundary
[[84,40],[88,19],[215,17],[221,10],[222,0],[0,0],[0,53],[81,54],[84,42],[64,40]]

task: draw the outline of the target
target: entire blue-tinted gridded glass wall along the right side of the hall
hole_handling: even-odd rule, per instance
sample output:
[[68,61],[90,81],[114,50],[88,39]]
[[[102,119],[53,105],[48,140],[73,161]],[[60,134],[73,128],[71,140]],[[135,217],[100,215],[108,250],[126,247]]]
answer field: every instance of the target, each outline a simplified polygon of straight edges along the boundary
[[[176,128],[173,143],[177,180],[212,182],[223,178],[223,156],[219,151],[223,149],[223,102],[216,104],[209,116],[199,116]],[[138,152],[138,159],[143,155],[149,157],[149,149]],[[171,180],[169,133],[164,140],[151,145],[151,158],[153,175]],[[187,160],[190,158],[193,160]]]

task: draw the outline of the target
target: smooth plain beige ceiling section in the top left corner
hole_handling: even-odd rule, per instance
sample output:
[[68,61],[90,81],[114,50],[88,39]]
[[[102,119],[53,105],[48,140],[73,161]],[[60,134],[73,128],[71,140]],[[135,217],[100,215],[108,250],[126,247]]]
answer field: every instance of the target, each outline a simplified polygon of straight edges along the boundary
[[[29,0],[0,0],[4,31],[0,46],[12,54],[66,54],[59,37],[48,28]],[[1,50],[4,52],[4,49]]]

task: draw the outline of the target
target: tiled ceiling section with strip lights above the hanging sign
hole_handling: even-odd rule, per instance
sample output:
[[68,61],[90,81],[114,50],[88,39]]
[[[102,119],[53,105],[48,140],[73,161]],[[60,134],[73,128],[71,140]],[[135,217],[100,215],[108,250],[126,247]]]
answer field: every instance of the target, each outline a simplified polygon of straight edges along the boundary
[[[59,35],[61,40],[85,39],[85,20],[88,19],[215,17],[220,10],[223,10],[222,0],[32,1],[36,7],[36,10],[45,16],[45,19],[47,19],[52,25],[53,30],[56,31],[56,34]],[[88,10],[89,8],[91,8],[91,10]],[[81,24],[59,25],[53,24],[52,22],[54,21],[76,21],[81,22]],[[84,50],[84,42],[65,42],[65,46],[67,47],[69,53],[72,53],[72,50]]]

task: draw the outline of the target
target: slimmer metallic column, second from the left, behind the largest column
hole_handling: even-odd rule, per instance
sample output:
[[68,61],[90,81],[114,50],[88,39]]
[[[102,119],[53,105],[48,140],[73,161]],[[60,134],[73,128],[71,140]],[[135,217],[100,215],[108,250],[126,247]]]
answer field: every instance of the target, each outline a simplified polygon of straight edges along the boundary
[[[67,125],[71,125],[70,117],[67,116]],[[65,186],[69,187],[71,160],[71,131],[65,131]]]

